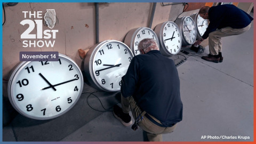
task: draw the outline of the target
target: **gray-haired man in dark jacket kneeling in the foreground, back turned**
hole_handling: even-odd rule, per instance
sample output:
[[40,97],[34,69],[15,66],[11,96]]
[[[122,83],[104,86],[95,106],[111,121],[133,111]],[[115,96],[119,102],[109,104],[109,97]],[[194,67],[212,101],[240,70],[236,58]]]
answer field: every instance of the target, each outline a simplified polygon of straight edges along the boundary
[[125,126],[135,123],[146,131],[149,141],[162,141],[162,133],[171,133],[182,120],[180,80],[173,60],[164,57],[154,39],[143,39],[122,77],[121,104],[113,114]]

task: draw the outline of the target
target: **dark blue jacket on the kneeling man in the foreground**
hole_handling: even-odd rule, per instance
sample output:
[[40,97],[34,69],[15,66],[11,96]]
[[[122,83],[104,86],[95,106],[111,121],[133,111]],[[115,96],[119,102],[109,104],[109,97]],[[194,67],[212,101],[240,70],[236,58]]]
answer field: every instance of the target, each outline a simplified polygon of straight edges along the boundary
[[172,59],[153,50],[136,55],[122,77],[121,93],[166,127],[182,120],[180,79]]

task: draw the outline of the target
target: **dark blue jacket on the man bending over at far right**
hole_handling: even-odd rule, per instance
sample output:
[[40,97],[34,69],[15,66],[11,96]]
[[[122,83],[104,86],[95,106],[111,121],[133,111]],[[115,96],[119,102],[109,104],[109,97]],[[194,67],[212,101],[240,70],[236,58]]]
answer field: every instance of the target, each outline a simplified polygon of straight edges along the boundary
[[238,9],[238,7],[233,4],[212,6],[210,7],[208,14],[210,23],[202,36],[204,39],[206,39],[209,34],[216,29],[225,27],[235,29],[245,28],[253,20],[249,14]]

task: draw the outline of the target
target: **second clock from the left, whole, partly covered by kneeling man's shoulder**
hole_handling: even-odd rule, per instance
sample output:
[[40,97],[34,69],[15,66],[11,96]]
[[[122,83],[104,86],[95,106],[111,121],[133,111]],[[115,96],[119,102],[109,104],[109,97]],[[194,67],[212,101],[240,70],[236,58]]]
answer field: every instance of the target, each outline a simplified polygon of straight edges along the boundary
[[121,89],[121,78],[133,58],[129,47],[119,41],[107,40],[94,45],[84,61],[85,76],[91,86],[115,92]]

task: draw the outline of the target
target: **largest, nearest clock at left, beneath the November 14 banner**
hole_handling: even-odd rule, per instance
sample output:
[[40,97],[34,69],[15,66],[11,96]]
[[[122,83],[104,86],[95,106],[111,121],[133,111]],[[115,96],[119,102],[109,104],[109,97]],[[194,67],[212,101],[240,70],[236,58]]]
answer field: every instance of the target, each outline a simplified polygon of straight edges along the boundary
[[10,77],[8,94],[20,114],[51,119],[65,114],[76,104],[83,85],[76,63],[59,54],[58,61],[21,62]]

